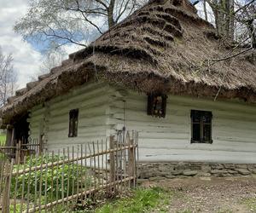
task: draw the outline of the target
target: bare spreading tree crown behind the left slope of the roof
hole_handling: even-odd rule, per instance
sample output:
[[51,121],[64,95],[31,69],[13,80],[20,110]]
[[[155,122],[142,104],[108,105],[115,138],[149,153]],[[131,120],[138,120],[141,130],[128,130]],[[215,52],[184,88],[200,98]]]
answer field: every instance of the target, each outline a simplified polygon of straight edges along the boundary
[[[34,42],[58,48],[66,43],[86,46],[147,0],[31,0],[15,32]],[[90,39],[89,39],[90,37]]]

